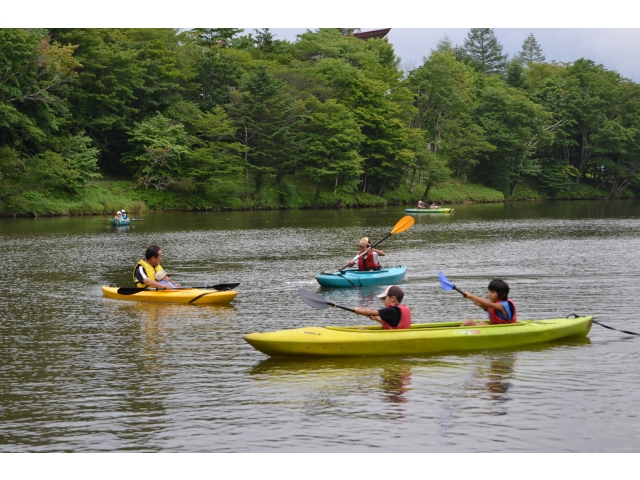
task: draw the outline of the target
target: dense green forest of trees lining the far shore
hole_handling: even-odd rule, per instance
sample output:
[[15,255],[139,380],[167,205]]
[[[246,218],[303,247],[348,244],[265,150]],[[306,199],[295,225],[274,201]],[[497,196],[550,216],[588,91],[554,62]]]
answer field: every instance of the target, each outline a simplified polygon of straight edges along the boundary
[[640,88],[619,73],[549,62],[532,34],[509,59],[488,28],[403,69],[354,31],[0,29],[0,208],[100,177],[219,207],[292,179],[316,196],[638,191]]

